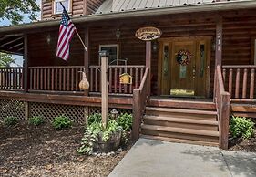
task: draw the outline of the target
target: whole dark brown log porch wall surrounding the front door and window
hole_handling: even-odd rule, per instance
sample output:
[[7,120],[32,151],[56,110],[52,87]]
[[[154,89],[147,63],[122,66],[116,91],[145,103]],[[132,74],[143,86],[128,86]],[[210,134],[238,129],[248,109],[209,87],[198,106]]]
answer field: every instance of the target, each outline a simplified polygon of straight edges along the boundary
[[[220,12],[223,16],[223,65],[250,65],[251,39],[256,36],[256,15],[255,9]],[[193,13],[187,15],[169,16],[148,16],[141,18],[128,18],[126,20],[99,21],[82,25],[79,31],[83,33],[83,27],[89,26],[89,64],[98,65],[99,45],[118,44],[119,58],[128,58],[128,65],[145,65],[146,43],[135,37],[135,32],[142,26],[156,26],[162,30],[163,37],[178,36],[212,36],[214,44],[216,32],[216,14]],[[132,23],[131,23],[132,22]],[[116,38],[116,31],[120,29],[121,36]],[[57,37],[57,32],[53,33]],[[75,36],[71,44],[71,57],[65,63],[62,60],[56,61],[56,38],[53,46],[47,46],[46,34],[36,34],[29,37],[30,66],[40,65],[82,65],[83,49]],[[32,41],[32,42],[31,42]],[[35,44],[35,45],[34,45]],[[38,54],[37,49],[45,49],[43,55]],[[36,61],[32,61],[36,58]],[[38,58],[38,59],[37,59]],[[46,59],[47,58],[47,59]],[[50,59],[48,59],[50,58]],[[73,61],[75,58],[75,61]],[[46,61],[47,60],[47,61]],[[158,86],[158,51],[152,55],[152,92],[157,94]],[[212,97],[215,67],[215,51],[212,45],[210,59],[210,96]]]

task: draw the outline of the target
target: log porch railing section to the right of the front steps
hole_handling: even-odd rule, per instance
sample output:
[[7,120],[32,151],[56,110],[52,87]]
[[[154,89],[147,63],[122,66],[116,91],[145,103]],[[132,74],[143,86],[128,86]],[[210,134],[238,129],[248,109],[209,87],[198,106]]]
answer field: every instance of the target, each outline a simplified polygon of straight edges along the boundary
[[252,65],[222,67],[225,88],[229,90],[231,99],[256,99],[255,70],[256,66]]

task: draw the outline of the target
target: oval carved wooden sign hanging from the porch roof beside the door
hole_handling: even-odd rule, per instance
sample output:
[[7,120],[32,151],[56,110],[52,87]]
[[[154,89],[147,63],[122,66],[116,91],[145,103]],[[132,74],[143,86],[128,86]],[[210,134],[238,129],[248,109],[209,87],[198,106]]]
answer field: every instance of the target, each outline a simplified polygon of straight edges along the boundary
[[135,36],[144,41],[150,41],[158,39],[162,35],[162,32],[153,26],[141,27],[136,31]]

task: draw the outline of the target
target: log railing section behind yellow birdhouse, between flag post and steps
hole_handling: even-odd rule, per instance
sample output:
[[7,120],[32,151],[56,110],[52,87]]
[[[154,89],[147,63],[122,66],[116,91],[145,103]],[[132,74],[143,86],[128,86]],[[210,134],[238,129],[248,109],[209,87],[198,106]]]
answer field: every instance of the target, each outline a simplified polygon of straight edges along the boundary
[[[112,94],[132,94],[133,89],[138,89],[145,72],[145,66],[109,66],[108,67],[108,91]],[[119,76],[128,73],[132,76],[132,84],[121,84]],[[89,67],[90,92],[100,92],[100,66]]]

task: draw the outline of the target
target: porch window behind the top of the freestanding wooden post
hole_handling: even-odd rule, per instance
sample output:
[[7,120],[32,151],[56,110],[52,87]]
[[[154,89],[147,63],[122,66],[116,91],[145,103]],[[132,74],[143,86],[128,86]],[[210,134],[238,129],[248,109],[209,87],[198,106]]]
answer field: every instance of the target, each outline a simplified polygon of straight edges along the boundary
[[[113,45],[99,45],[100,51],[107,51],[109,54],[108,57],[108,64],[109,65],[118,65],[118,53],[119,53],[119,47],[118,44]],[[100,61],[99,61],[100,63]]]

